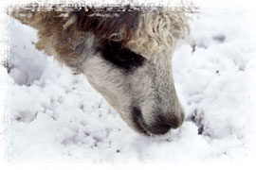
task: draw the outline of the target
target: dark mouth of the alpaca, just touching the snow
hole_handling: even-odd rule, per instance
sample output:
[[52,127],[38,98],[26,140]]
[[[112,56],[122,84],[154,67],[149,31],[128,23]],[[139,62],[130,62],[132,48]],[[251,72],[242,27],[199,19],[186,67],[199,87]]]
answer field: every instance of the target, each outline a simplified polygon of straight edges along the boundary
[[141,110],[139,110],[137,107],[133,108],[132,111],[133,115],[133,121],[137,127],[137,130],[147,134],[147,135],[161,135],[168,132],[171,128],[171,126],[164,123],[163,118],[158,116],[155,118],[155,123],[152,125],[146,124],[145,120],[143,119]]

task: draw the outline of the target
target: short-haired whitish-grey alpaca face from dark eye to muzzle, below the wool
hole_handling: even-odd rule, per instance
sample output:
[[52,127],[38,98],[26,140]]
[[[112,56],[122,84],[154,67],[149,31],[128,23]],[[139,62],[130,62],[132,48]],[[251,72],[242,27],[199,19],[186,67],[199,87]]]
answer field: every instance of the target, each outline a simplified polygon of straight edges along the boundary
[[164,134],[182,124],[184,111],[174,89],[172,52],[145,58],[109,42],[88,55],[82,68],[91,85],[137,131]]

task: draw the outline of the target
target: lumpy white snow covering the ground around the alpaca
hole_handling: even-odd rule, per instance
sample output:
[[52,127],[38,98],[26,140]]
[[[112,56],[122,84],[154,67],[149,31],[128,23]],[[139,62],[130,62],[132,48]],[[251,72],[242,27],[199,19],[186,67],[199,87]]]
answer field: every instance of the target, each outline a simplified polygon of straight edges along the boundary
[[158,138],[127,127],[85,76],[36,50],[34,29],[2,17],[9,29],[9,161],[253,160],[256,59],[249,16],[243,8],[193,14],[191,34],[178,43],[173,61],[186,121]]

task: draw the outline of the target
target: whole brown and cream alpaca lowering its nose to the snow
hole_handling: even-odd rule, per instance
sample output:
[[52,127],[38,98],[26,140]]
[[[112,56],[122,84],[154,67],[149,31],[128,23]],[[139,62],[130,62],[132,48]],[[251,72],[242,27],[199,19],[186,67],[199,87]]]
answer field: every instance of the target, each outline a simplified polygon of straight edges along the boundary
[[30,4],[8,13],[37,29],[37,49],[86,76],[129,127],[161,135],[183,123],[172,57],[189,31],[184,8]]

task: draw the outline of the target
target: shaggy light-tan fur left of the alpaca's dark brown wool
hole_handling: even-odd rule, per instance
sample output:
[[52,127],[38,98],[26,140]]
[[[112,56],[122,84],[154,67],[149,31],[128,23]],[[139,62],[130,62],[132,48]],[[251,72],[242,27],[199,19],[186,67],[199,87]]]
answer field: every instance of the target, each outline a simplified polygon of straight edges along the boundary
[[[75,73],[81,73],[85,41],[89,38],[78,29],[77,16],[72,8],[59,5],[47,7],[30,4],[8,8],[9,16],[38,30],[38,42],[35,46],[48,56],[54,56],[61,63],[71,67]],[[70,41],[72,40],[72,41]]]

